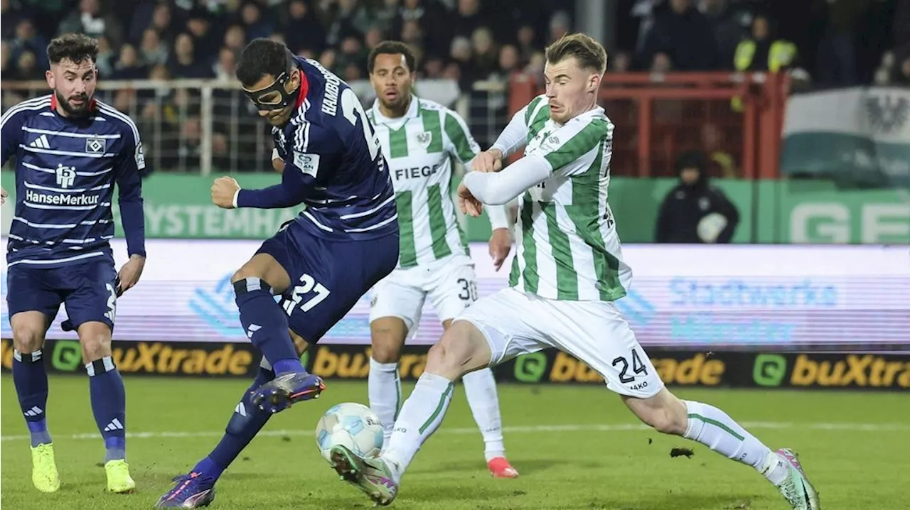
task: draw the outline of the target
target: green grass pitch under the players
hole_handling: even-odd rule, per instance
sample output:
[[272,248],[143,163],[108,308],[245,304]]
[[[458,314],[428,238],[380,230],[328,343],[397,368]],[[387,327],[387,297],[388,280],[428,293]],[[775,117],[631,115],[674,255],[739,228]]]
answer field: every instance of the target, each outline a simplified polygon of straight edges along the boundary
[[[211,508],[369,508],[339,481],[313,437],[319,415],[339,402],[367,402],[366,382],[329,381],[319,400],[276,415],[228,469]],[[107,495],[103,445],[84,376],[50,381],[48,421],[63,485],[31,485],[25,423],[12,377],[0,378],[0,508],[151,508],[220,437],[247,382],[128,376],[127,460],[133,495]],[[792,446],[825,510],[905,509],[910,395],[822,391],[693,390],[682,397],[718,405],[773,447]],[[405,395],[410,394],[410,386]],[[423,447],[392,508],[420,510],[784,510],[761,475],[679,437],[639,425],[600,386],[501,385],[506,446],[521,477],[487,474],[480,433],[463,392]],[[690,447],[692,457],[671,457]]]

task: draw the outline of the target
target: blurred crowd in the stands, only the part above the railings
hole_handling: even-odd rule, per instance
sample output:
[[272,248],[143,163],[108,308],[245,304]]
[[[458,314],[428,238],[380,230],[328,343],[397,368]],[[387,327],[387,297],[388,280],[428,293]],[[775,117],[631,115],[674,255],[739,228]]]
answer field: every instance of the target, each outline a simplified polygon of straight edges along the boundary
[[[591,0],[600,1],[600,0]],[[905,0],[616,0],[611,68],[799,66],[818,86],[910,83]],[[41,79],[54,35],[98,37],[106,79],[230,76],[250,39],[273,37],[348,81],[386,38],[420,75],[464,83],[539,70],[572,30],[570,0],[0,0],[0,79]]]

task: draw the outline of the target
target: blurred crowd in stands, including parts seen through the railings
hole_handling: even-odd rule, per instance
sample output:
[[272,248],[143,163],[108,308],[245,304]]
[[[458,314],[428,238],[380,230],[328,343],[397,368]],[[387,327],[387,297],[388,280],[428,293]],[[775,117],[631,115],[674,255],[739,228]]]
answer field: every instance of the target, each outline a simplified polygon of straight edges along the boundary
[[[587,1],[611,6],[604,43],[616,75],[771,70],[791,73],[803,89],[910,84],[910,0]],[[508,119],[510,80],[516,75],[539,80],[543,48],[578,29],[584,15],[579,8],[585,5],[576,0],[0,0],[5,84],[0,101],[6,108],[45,94],[40,84],[33,90],[9,84],[43,80],[47,41],[83,32],[99,40],[103,82],[153,80],[98,94],[136,119],[150,167],[193,172],[202,155],[210,154],[208,166],[215,171],[268,171],[268,160],[261,157],[268,154],[268,129],[230,85],[243,46],[254,37],[278,39],[354,84],[368,78],[369,50],[391,38],[414,48],[422,83],[457,84],[452,97],[467,99],[460,112],[480,145],[489,145]],[[206,104],[198,85],[174,85],[177,78],[225,85],[216,86]],[[357,90],[369,95],[369,85]],[[421,90],[427,89],[419,83]],[[709,151],[708,165],[718,167],[713,175],[735,177],[742,176],[733,161],[738,149],[728,153],[723,146],[742,137],[736,131],[741,127],[731,127],[742,125],[734,116],[739,112],[735,102],[689,110],[665,104],[655,106],[654,118],[658,124],[671,119],[677,137],[690,135],[680,129],[685,119],[697,119],[698,139],[688,145]],[[625,128],[622,136],[635,132],[631,106],[617,105],[609,113]],[[660,135],[659,125],[654,130]],[[636,144],[622,140],[614,150],[630,152],[617,159],[634,161]],[[680,148],[674,145],[659,162],[664,175],[672,175]],[[623,169],[616,172],[622,175]]]

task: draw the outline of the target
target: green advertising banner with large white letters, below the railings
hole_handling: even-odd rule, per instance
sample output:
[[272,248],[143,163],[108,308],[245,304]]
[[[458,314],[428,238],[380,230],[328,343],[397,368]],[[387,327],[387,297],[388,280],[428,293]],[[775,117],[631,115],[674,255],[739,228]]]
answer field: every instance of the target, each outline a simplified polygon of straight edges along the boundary
[[[298,214],[289,209],[220,209],[210,187],[218,175],[158,173],[143,182],[149,238],[265,239]],[[244,187],[278,183],[276,174],[234,175]],[[675,181],[616,177],[610,205],[624,243],[652,243],[657,211]],[[902,190],[841,190],[824,181],[715,180],[740,211],[734,243],[910,244],[910,193]],[[15,195],[14,175],[0,185]],[[123,235],[114,207],[116,234]],[[0,207],[0,233],[8,233],[13,207]],[[490,236],[486,217],[467,218],[470,241]]]

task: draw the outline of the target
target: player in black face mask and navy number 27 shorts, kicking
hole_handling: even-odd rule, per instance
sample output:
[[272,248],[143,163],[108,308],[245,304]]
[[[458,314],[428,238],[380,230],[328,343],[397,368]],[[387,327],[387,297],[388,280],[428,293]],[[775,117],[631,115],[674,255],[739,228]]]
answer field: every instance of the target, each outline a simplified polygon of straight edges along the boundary
[[[230,177],[212,185],[219,207],[307,208],[266,240],[231,278],[240,322],[263,355],[256,380],[235,407],[216,448],[159,507],[211,503],[218,476],[269,415],[319,396],[325,386],[300,364],[290,332],[319,341],[384,276],[399,256],[395,194],[379,139],[354,91],[318,62],[256,39],[237,76],[272,125],[281,182],[242,189]],[[281,295],[276,303],[274,295]],[[290,331],[288,331],[290,330]]]

